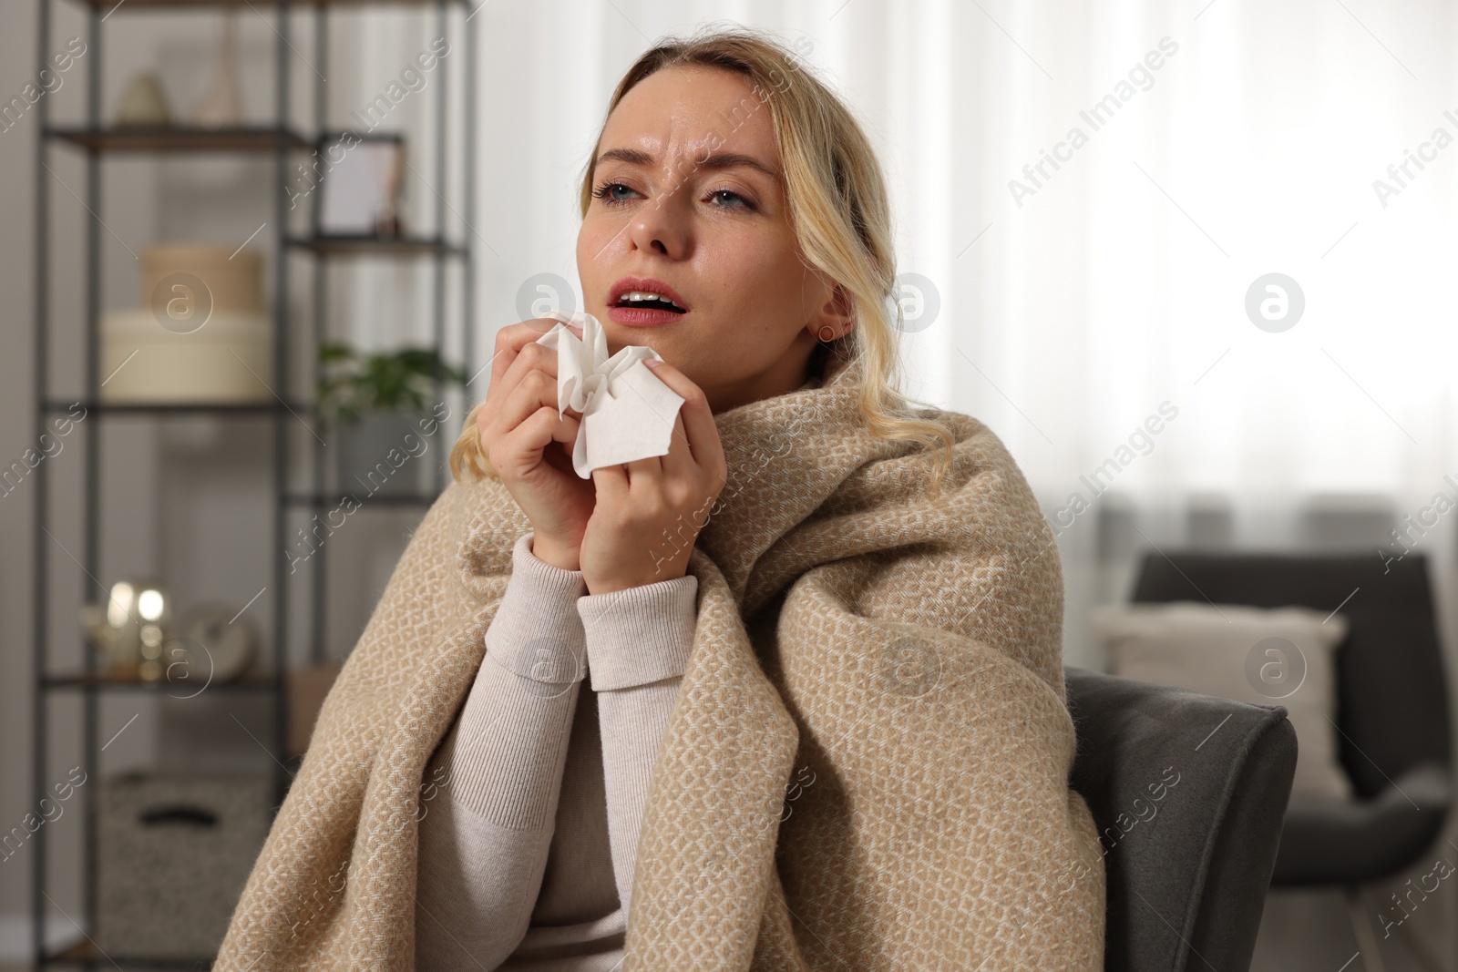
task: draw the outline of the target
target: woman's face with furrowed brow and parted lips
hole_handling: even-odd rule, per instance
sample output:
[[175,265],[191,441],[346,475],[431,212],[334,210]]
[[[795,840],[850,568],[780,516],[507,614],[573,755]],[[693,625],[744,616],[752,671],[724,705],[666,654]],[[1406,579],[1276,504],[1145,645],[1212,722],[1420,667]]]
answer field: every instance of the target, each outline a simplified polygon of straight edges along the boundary
[[[602,133],[577,235],[586,310],[609,353],[653,348],[714,412],[795,391],[821,328],[850,326],[840,291],[799,255],[780,171],[767,103],[728,70],[656,71]],[[685,312],[618,309],[623,287],[655,290],[630,277]]]

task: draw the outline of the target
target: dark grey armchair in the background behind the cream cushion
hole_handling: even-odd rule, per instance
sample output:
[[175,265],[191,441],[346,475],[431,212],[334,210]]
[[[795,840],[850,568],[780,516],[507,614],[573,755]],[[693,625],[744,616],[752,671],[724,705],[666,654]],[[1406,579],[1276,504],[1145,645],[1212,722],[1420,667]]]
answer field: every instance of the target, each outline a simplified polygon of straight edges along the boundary
[[[1146,555],[1136,602],[1197,600],[1340,609],[1338,758],[1353,801],[1301,801],[1286,815],[1271,885],[1340,887],[1369,972],[1382,955],[1363,885],[1426,855],[1452,807],[1448,679],[1427,557],[1378,554]],[[1395,909],[1401,914],[1401,909]],[[1391,921],[1391,920],[1389,920]],[[1387,936],[1384,936],[1387,937]],[[1416,934],[1394,936],[1423,968],[1442,960]]]

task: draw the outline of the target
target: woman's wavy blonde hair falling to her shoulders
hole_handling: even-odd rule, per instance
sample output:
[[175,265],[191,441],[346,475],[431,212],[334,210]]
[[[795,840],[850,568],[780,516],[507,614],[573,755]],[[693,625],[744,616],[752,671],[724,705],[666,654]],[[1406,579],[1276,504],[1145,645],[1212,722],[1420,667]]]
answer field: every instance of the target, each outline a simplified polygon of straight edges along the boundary
[[[841,101],[814,77],[798,54],[771,35],[745,26],[706,28],[688,39],[665,38],[644,52],[618,82],[608,111],[655,71],[668,67],[717,67],[746,77],[770,108],[784,172],[790,226],[803,259],[840,284],[854,310],[854,326],[828,345],[818,344],[811,369],[837,363],[856,369],[860,412],[875,436],[910,442],[936,450],[932,478],[940,491],[951,468],[955,439],[935,409],[913,408],[897,391],[901,358],[886,302],[895,286],[891,204],[875,149]],[[749,102],[742,99],[741,105]],[[757,109],[749,102],[748,111]],[[739,109],[735,109],[738,117]],[[602,130],[582,176],[580,208],[592,204],[593,172]],[[901,305],[895,302],[901,324]],[[451,450],[451,472],[461,478],[469,466],[477,475],[496,475],[481,450],[477,428],[478,402],[465,418]]]

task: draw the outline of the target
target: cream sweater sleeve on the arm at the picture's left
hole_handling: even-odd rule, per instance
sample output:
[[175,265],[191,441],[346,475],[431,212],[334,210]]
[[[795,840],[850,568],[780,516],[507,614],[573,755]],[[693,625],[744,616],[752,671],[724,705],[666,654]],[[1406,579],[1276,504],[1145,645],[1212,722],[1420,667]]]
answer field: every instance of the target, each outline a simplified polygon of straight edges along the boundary
[[574,611],[586,584],[582,571],[538,560],[532,536],[512,549],[486,657],[426,767],[416,889],[421,972],[506,960],[526,934],[547,867],[586,676]]

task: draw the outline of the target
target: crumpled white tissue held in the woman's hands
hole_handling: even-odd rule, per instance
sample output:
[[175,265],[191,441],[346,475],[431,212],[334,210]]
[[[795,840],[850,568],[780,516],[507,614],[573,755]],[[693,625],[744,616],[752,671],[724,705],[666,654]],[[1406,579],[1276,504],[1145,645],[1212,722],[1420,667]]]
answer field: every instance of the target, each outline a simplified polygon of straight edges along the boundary
[[[548,310],[542,316],[558,322],[537,338],[557,350],[557,414],[569,405],[582,412],[572,447],[577,475],[590,479],[601,466],[666,456],[684,398],[643,364],[662,361],[658,351],[633,344],[608,357],[608,337],[590,313]],[[567,324],[580,326],[582,338]]]

